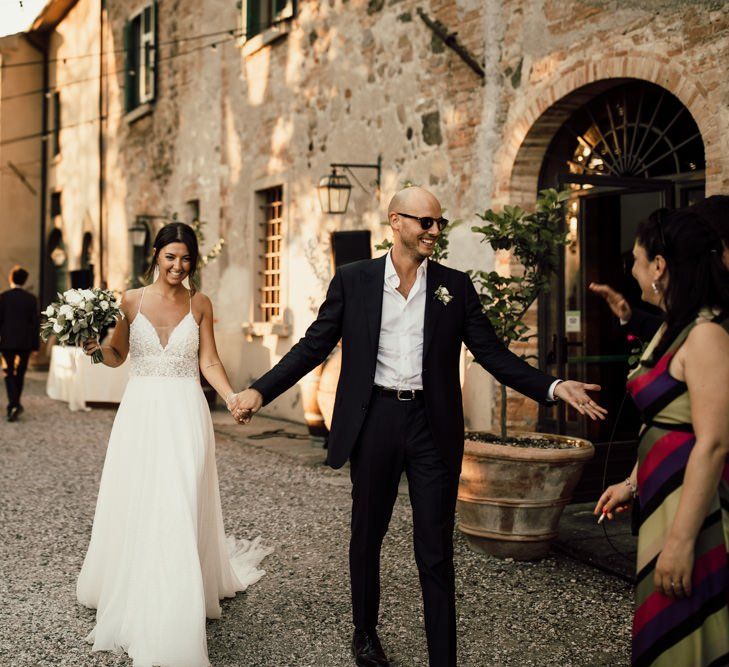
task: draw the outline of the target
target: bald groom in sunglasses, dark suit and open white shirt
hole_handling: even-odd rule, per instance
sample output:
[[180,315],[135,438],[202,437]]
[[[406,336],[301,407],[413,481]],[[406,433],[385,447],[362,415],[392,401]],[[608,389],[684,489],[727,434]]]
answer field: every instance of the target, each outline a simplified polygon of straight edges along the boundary
[[411,187],[390,202],[394,245],[384,257],[341,267],[316,321],[279,363],[238,395],[247,422],[320,364],[342,340],[342,370],[328,464],[350,462],[349,564],[357,665],[389,665],[377,637],[380,547],[404,470],[431,667],[456,664],[453,526],[463,455],[459,356],[465,343],[497,380],[547,403],[554,397],[593,419],[586,390],[529,366],[498,340],[470,278],[429,261],[447,224],[438,200]]

